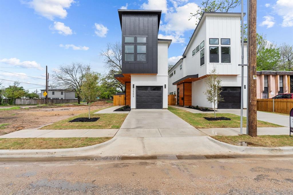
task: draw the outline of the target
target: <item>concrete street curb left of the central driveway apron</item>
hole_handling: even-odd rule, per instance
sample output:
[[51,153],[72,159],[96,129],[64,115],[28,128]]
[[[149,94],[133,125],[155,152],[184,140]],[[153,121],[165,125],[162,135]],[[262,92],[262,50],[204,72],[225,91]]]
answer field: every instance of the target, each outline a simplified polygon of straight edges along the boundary
[[21,149],[21,150],[0,150],[1,158],[58,158],[58,157],[81,157],[96,155],[96,149],[103,148],[116,138],[112,138],[103,143],[81,148],[64,148],[64,149]]

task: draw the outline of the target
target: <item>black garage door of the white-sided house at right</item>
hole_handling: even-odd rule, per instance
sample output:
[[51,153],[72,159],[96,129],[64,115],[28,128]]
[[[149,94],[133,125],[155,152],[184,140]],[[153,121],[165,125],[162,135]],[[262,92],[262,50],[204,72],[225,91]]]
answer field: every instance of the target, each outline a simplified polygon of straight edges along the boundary
[[218,103],[218,108],[240,109],[241,107],[241,87],[223,87],[221,96],[224,102]]

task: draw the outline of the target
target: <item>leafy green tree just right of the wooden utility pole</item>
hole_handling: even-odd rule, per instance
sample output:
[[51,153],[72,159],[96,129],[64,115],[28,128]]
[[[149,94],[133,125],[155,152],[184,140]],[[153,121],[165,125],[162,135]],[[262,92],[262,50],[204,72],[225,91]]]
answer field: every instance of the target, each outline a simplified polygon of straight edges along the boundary
[[278,70],[280,49],[266,39],[266,35],[256,34],[256,70]]

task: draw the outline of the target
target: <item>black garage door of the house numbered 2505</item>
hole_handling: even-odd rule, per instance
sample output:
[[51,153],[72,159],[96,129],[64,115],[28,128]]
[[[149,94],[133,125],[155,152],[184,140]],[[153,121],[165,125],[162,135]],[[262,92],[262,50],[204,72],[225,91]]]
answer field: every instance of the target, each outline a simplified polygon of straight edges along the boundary
[[136,87],[136,108],[162,109],[162,91],[161,86]]

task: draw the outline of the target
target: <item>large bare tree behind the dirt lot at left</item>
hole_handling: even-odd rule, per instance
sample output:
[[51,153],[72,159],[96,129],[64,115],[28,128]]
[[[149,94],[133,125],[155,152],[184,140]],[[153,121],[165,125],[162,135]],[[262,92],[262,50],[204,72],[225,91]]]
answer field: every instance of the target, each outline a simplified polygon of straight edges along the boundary
[[78,103],[80,104],[80,89],[86,72],[90,70],[89,65],[72,62],[69,65],[59,66],[59,69],[53,71],[53,83],[51,88],[62,88],[72,90],[76,93]]

